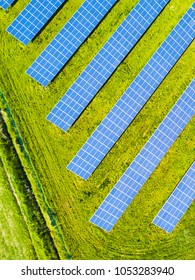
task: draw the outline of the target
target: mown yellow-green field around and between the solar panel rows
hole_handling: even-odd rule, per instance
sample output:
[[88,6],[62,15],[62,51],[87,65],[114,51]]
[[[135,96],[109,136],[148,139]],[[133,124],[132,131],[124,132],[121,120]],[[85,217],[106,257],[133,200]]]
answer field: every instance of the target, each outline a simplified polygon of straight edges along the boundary
[[[107,234],[88,222],[192,80],[195,73],[194,42],[90,179],[85,182],[66,170],[78,149],[193,1],[170,1],[67,133],[46,121],[47,114],[138,1],[120,0],[47,88],[37,84],[25,71],[83,1],[67,1],[43,32],[24,47],[5,29],[27,2],[18,1],[8,12],[0,11],[0,88],[72,258],[194,259],[195,204],[171,235],[151,223],[194,160],[194,118],[111,233]],[[32,187],[42,207],[39,189],[36,185]],[[60,256],[65,258],[65,252]]]

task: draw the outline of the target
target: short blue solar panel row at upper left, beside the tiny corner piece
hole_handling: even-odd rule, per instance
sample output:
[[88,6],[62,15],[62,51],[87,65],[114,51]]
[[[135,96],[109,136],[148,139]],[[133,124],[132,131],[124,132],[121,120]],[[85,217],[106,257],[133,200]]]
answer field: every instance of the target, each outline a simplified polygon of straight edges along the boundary
[[27,45],[65,0],[31,0],[7,28],[16,39]]

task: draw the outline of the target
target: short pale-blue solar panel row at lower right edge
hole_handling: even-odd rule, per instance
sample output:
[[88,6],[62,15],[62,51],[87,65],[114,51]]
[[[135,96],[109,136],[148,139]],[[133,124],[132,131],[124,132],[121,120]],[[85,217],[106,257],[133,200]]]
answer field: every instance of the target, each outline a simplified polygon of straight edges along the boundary
[[195,162],[157,214],[153,223],[171,233],[195,199]]

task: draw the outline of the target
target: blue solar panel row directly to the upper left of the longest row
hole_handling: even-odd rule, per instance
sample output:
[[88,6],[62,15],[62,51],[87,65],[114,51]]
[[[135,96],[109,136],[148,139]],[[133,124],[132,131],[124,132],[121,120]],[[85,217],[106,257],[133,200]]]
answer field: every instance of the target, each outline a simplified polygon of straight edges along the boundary
[[66,131],[115,71],[169,0],[140,1],[47,119]]

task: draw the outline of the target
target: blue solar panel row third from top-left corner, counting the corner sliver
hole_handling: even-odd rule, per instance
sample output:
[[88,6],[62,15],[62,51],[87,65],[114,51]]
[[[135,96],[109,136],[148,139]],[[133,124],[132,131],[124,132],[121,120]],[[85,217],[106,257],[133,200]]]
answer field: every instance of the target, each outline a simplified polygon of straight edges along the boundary
[[116,1],[85,1],[26,73],[47,86]]

